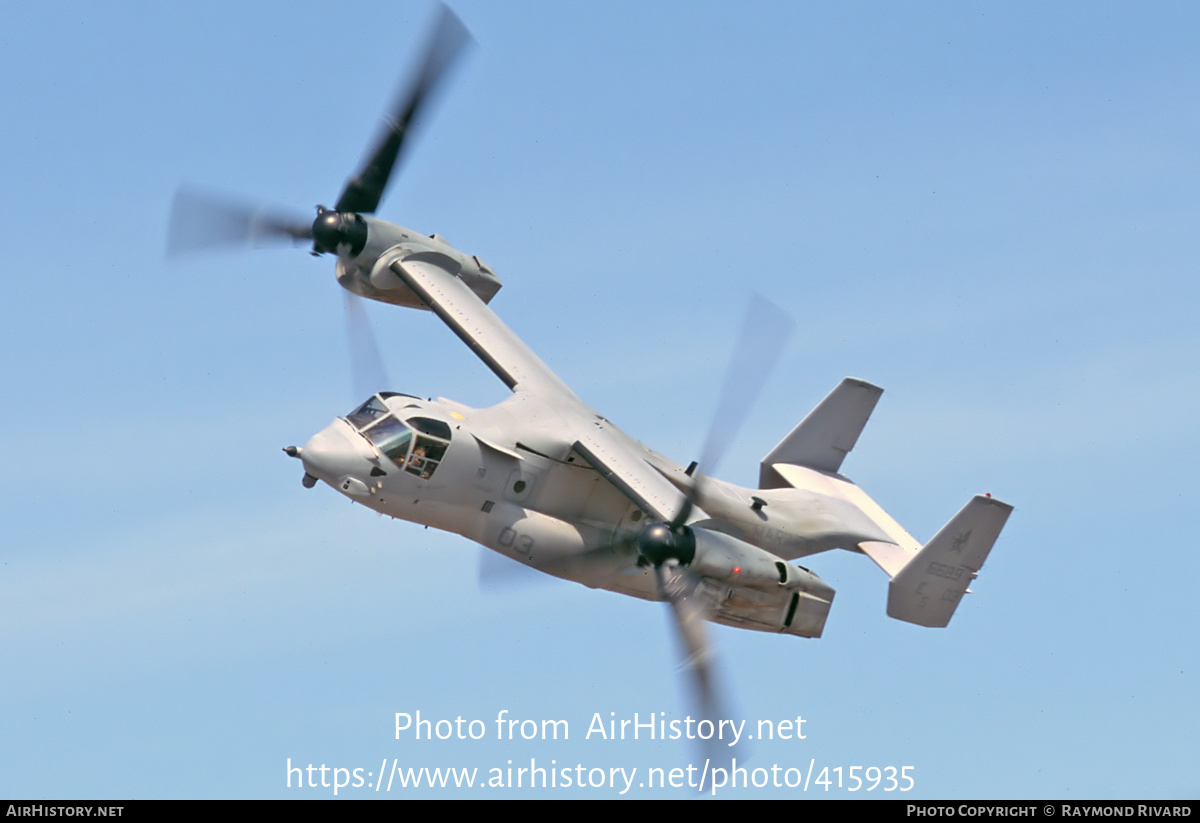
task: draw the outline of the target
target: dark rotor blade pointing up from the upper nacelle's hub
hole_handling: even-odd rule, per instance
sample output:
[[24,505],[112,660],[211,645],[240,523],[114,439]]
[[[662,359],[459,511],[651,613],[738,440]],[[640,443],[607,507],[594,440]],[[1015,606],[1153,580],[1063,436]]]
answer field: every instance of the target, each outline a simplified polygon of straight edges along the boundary
[[368,215],[379,208],[409,127],[470,42],[470,35],[462,22],[452,11],[442,6],[442,17],[430,40],[420,73],[408,92],[397,98],[388,116],[388,127],[379,136],[358,175],[347,181],[342,196],[337,198],[337,211]]

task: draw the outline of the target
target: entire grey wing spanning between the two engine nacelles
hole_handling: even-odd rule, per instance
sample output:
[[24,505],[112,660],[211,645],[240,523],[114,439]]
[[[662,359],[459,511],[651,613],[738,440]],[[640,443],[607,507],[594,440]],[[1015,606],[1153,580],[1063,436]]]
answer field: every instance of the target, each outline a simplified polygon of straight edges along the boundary
[[[421,252],[401,251],[388,265],[509,389],[558,407],[568,428],[564,439],[608,482],[647,515],[672,519],[684,495],[647,462],[641,446],[576,397],[461,280],[422,258]],[[689,519],[703,517],[694,507]]]

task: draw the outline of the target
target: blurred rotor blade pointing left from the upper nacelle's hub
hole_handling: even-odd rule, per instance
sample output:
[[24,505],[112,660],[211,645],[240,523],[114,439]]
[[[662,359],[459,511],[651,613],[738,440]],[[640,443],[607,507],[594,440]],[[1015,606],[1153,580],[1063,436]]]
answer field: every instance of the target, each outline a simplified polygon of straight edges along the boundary
[[167,253],[256,246],[271,241],[312,239],[312,220],[268,211],[212,194],[180,188],[170,205]]

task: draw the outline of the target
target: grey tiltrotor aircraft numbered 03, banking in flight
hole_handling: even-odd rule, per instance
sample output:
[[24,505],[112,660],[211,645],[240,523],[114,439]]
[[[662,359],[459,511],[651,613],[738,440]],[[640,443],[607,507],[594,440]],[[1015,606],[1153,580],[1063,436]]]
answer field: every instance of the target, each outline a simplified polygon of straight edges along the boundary
[[[437,314],[512,395],[486,409],[392,391],[286,451],[304,483],[323,481],[368,509],[454,531],[521,564],[584,585],[671,603],[694,662],[703,619],[820,637],[834,590],[799,560],[841,548],[890,578],[887,612],[946,626],[1012,506],[979,495],[922,545],[840,474],[881,389],[845,379],[762,459],[758,488],[706,476],[778,352],[734,359],[702,457],[682,467],[580,400],[488,308],[500,288],[478,257],[437,235],[372,217],[416,114],[468,42],[443,10],[409,94],[334,209],[310,224],[197,194],[176,198],[170,246],[247,238],[311,240],[337,256],[349,292]],[[758,306],[748,328],[779,326]],[[745,347],[744,347],[745,348]],[[698,666],[701,695],[707,672]]]

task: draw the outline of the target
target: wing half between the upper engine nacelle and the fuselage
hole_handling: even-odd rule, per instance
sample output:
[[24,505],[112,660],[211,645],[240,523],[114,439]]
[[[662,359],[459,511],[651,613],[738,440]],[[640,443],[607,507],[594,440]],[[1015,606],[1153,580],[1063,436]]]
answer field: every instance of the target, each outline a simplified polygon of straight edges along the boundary
[[570,403],[582,401],[457,277],[425,259],[401,253],[389,268],[458,335],[512,391],[535,391]]

